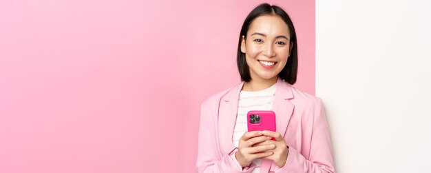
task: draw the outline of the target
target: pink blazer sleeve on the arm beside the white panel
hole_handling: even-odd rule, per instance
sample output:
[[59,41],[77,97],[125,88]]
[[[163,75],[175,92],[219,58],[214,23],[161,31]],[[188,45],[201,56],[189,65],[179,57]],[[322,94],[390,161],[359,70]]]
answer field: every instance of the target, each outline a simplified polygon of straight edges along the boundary
[[328,123],[322,101],[319,98],[317,98],[315,107],[309,158],[306,159],[295,148],[289,147],[286,165],[275,172],[335,172]]

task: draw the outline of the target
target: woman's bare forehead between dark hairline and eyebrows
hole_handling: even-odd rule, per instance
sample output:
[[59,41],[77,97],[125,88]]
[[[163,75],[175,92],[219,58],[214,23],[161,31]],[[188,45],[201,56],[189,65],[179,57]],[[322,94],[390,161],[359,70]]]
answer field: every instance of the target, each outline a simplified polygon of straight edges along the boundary
[[256,19],[251,22],[247,35],[253,34],[254,32],[266,34],[268,37],[276,37],[278,35],[290,37],[286,22],[278,15],[256,17]]

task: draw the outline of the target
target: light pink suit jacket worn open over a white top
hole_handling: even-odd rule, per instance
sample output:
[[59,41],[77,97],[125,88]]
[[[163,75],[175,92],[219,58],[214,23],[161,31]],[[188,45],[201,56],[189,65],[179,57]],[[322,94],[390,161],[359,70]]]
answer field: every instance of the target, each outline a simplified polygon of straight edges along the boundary
[[[201,105],[198,172],[251,172],[235,159],[232,143],[238,99],[244,82],[209,97]],[[284,167],[263,159],[260,172],[335,172],[328,123],[322,101],[277,80],[273,111],[277,132],[289,147]]]

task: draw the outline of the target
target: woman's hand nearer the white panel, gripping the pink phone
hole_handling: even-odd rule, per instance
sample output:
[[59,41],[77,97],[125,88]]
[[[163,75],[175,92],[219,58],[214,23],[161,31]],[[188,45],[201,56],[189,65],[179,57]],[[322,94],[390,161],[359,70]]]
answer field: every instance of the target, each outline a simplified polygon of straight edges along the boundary
[[262,134],[265,136],[273,137],[275,139],[275,141],[270,139],[270,140],[255,144],[255,146],[269,145],[269,144],[275,145],[275,148],[273,150],[267,151],[267,152],[273,152],[273,154],[271,156],[266,156],[262,159],[270,159],[274,161],[274,163],[277,164],[278,167],[284,167],[288,156],[288,147],[286,145],[286,142],[284,141],[283,136],[278,132],[273,132],[269,130],[262,131]]

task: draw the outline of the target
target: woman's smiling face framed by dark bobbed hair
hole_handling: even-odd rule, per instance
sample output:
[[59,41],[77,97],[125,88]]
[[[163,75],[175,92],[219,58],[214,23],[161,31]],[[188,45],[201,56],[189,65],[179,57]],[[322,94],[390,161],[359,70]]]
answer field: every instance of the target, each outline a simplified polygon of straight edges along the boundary
[[288,26],[279,16],[264,15],[254,19],[241,43],[251,80],[277,78],[291,54],[290,39]]

